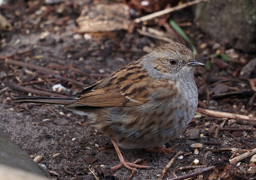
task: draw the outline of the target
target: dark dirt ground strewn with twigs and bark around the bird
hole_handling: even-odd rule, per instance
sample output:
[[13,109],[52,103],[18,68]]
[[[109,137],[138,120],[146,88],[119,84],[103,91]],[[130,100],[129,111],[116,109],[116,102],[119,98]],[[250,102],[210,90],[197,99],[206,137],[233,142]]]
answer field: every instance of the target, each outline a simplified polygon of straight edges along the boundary
[[[86,119],[77,117],[60,106],[13,104],[8,99],[12,94],[28,94],[27,90],[13,84],[33,88],[38,93],[32,94],[43,95],[39,91],[56,93],[52,91],[52,85],[60,83],[70,91],[59,94],[68,96],[80,89],[82,84],[86,85],[104,78],[107,74],[144,56],[146,48],[166,42],[141,36],[136,31],[128,33],[124,30],[107,35],[87,34],[87,38],[84,38],[83,34],[76,33],[75,23],[82,6],[75,8],[71,1],[57,4],[41,2],[40,6],[37,4],[39,8],[34,11],[32,11],[33,6],[30,5],[35,2],[22,1],[15,6],[12,3],[14,1],[2,7],[1,12],[13,24],[13,29],[0,33],[0,99],[2,102],[0,128],[29,156],[41,155],[43,160],[40,163],[45,164],[53,179],[95,179],[89,168],[94,169],[96,176],[100,179],[129,178],[131,174],[129,169],[110,170],[110,167],[119,164],[115,149],[97,150],[110,147],[112,143],[104,134],[86,124]],[[87,3],[92,2],[87,1]],[[42,6],[47,9],[48,14],[37,14]],[[9,11],[11,7],[13,11]],[[57,13],[59,8],[64,10]],[[190,16],[181,14],[190,14]],[[182,21],[190,23],[190,26],[184,27],[185,32],[198,48],[199,54],[196,56],[198,61],[207,64],[206,69],[199,67],[195,71],[195,81],[199,88],[199,107],[255,116],[255,99],[252,99],[254,91],[252,83],[248,80],[255,78],[255,74],[252,73],[248,79],[239,78],[241,69],[255,57],[255,54],[234,50],[233,54],[238,57],[232,58],[230,62],[224,61],[221,57],[209,58],[209,54],[216,51],[224,53],[230,48],[225,47],[225,44],[211,41],[202,33],[193,22],[191,18],[193,13],[189,9],[176,12],[172,16],[180,23]],[[57,20],[51,22],[52,17],[55,17],[58,23],[56,23]],[[174,35],[176,40],[180,39],[177,34]],[[189,47],[189,44],[186,45]],[[45,69],[15,64],[8,59],[45,67],[58,73],[56,75],[46,72]],[[185,154],[182,159],[176,159],[164,179],[173,178],[174,170],[179,167],[196,166],[193,164],[194,159],[199,159],[198,165],[210,166],[217,160],[228,161],[234,153],[211,152],[209,149],[256,148],[254,127],[255,122],[231,121],[230,118],[217,118],[196,113],[186,131],[166,144],[167,147],[178,144],[174,150],[183,151]],[[203,144],[203,148],[199,148],[199,154],[194,154],[194,149],[190,147],[194,143]],[[137,158],[145,158],[142,163],[152,167],[138,169],[131,179],[157,179],[166,164],[173,158],[165,154],[146,152],[144,149],[122,149],[121,151],[127,161],[133,162]],[[244,173],[237,176],[239,178],[255,177],[256,171],[254,164],[250,163],[250,157],[243,159],[239,168],[232,168],[235,172]],[[249,168],[254,168],[253,172],[248,173]],[[192,168],[186,171],[175,171],[177,176],[191,172],[194,172]]]

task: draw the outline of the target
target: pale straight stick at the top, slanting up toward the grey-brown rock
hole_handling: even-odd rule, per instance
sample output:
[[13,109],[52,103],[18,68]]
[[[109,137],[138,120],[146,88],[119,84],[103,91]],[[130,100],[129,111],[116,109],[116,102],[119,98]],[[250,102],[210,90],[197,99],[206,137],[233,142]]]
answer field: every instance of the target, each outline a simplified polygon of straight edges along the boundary
[[178,10],[183,9],[185,7],[189,7],[189,6],[192,6],[194,4],[201,3],[201,2],[206,2],[206,1],[205,0],[196,0],[196,1],[188,2],[188,3],[184,3],[184,4],[181,4],[179,6],[164,9],[163,11],[155,12],[155,13],[149,14],[147,16],[136,18],[136,19],[134,19],[134,22],[139,23],[139,22],[142,22],[142,21],[147,21],[149,19],[153,19],[155,17],[162,16],[162,15],[168,14],[170,12],[178,11]]

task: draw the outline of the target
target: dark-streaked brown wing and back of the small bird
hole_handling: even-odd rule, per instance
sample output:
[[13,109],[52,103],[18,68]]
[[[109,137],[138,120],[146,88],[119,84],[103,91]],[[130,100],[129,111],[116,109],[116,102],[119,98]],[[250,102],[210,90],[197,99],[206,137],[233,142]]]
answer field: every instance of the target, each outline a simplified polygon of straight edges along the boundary
[[121,68],[95,84],[89,85],[76,95],[78,101],[67,105],[90,107],[140,106],[150,101],[155,88],[168,86],[167,81],[152,80],[142,69],[140,61]]

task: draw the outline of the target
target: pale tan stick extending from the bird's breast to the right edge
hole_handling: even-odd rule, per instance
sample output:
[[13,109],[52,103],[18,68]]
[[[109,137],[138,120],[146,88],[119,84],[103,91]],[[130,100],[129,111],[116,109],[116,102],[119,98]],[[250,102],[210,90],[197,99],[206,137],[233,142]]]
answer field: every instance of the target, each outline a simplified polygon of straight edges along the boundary
[[197,111],[200,112],[200,113],[206,114],[208,116],[212,116],[212,117],[231,118],[231,119],[239,119],[239,120],[244,120],[244,121],[256,122],[256,118],[248,117],[248,116],[244,116],[244,115],[240,115],[240,114],[213,111],[213,110],[203,109],[203,108],[198,108]]

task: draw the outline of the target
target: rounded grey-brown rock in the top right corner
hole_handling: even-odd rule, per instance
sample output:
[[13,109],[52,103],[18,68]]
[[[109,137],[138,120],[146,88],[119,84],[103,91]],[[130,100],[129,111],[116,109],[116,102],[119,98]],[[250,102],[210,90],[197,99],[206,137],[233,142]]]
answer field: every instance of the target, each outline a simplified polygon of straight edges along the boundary
[[214,41],[256,52],[256,0],[209,0],[198,4],[195,17]]

